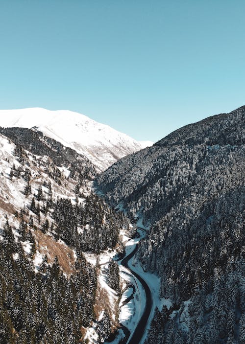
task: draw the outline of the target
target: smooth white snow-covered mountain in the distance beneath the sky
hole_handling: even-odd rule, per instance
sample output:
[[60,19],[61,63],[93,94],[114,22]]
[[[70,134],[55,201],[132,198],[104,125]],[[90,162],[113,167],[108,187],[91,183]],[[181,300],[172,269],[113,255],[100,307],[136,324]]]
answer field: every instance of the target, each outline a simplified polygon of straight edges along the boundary
[[0,126],[39,130],[85,155],[100,171],[118,159],[152,145],[150,141],[138,142],[108,125],[68,110],[0,110]]

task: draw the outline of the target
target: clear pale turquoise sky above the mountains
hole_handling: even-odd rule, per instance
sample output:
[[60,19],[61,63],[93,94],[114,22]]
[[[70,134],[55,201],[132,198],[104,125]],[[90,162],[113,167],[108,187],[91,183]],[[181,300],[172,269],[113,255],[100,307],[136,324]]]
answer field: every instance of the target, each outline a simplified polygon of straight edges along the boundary
[[156,141],[242,105],[244,0],[0,0],[0,109]]

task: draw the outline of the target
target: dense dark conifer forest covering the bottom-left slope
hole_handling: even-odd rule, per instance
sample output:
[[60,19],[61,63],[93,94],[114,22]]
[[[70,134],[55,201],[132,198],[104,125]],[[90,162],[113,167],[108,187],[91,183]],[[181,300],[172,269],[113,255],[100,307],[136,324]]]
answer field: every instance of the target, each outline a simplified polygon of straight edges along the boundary
[[[93,319],[94,269],[80,256],[76,273],[66,279],[56,258],[51,267],[44,262],[45,275],[35,274],[11,233],[6,222],[0,241],[0,343],[78,343],[81,326]],[[27,236],[31,240],[30,232]]]

